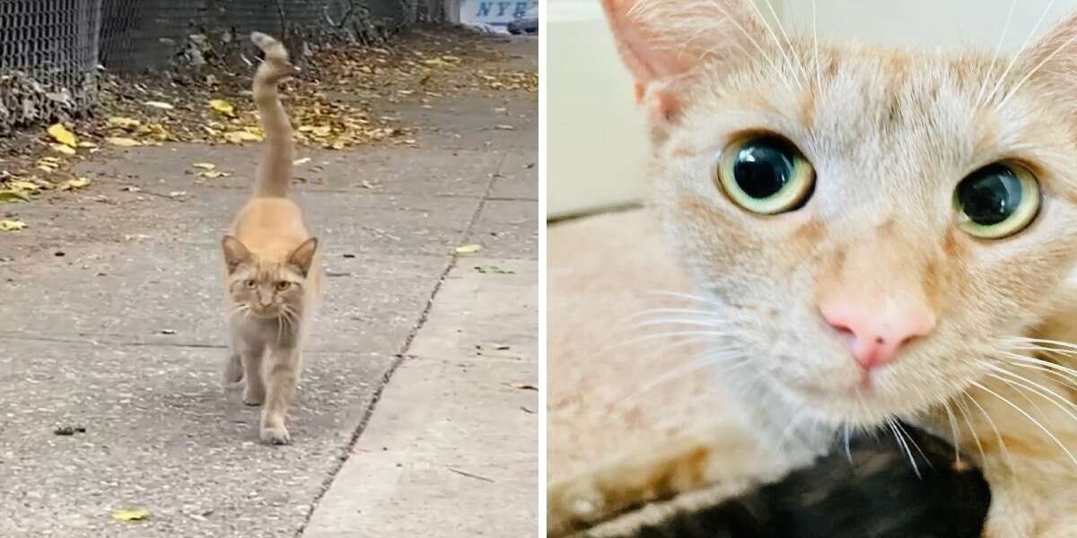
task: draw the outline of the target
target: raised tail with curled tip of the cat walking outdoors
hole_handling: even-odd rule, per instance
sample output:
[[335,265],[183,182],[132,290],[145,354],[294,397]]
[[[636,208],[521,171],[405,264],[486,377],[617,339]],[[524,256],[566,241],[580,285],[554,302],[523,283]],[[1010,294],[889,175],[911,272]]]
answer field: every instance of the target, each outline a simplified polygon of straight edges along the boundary
[[292,160],[295,150],[292,125],[280,102],[277,85],[294,76],[298,69],[288,59],[284,45],[262,32],[251,33],[251,41],[265,53],[265,59],[254,73],[254,104],[262,116],[265,148],[254,181],[255,198],[282,198],[288,196],[292,180]]

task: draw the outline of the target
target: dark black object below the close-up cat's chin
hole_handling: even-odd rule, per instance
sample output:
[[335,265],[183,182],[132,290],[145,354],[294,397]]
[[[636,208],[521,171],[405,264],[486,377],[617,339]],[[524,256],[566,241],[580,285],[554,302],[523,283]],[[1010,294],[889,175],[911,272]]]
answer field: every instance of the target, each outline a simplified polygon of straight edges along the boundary
[[635,538],[975,538],[991,492],[979,469],[954,463],[947,442],[905,430],[920,477],[893,436],[843,443],[811,467],[741,497],[679,513]]

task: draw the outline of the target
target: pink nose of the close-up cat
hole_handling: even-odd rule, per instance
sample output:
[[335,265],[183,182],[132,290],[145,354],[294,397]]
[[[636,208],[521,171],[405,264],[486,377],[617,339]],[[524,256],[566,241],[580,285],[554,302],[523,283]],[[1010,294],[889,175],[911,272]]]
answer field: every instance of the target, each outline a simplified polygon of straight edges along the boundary
[[935,313],[926,305],[914,302],[887,302],[878,308],[861,300],[835,298],[823,301],[820,312],[865,370],[893,363],[905,344],[935,328]]

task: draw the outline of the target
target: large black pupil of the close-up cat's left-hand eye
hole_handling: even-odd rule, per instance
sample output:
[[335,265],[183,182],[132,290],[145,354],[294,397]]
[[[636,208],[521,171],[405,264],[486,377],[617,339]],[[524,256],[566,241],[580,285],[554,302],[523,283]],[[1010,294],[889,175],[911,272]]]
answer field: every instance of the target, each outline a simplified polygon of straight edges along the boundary
[[781,139],[764,138],[746,144],[733,161],[737,186],[755,199],[778,194],[793,176],[794,150]]

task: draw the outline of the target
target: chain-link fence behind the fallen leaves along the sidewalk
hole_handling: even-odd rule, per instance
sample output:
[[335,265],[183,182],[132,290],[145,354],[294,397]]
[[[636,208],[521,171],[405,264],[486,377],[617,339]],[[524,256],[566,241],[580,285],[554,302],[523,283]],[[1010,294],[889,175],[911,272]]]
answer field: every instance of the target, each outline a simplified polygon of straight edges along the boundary
[[[379,42],[443,19],[439,0],[0,0],[0,134],[97,102],[100,68],[137,74],[205,62],[209,42],[264,31],[300,59],[323,39]],[[242,43],[242,44],[240,44]]]

